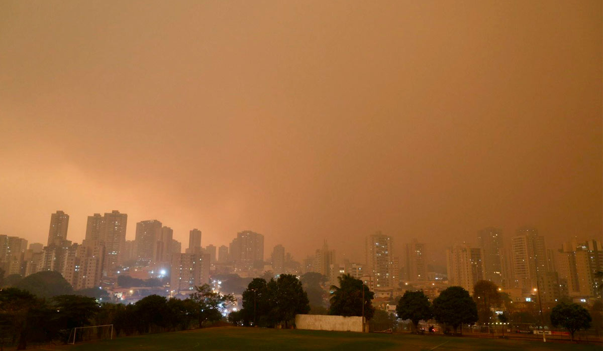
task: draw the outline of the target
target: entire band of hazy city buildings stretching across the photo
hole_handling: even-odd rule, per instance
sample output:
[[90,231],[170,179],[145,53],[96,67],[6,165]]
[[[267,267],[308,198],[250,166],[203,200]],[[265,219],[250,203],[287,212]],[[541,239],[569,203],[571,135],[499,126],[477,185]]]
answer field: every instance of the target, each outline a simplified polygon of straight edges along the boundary
[[[547,248],[537,229],[523,227],[504,240],[502,231],[485,228],[476,244],[459,243],[446,250],[446,273],[434,272],[425,243],[411,240],[396,252],[390,235],[376,232],[364,242],[364,261],[338,261],[327,242],[301,262],[282,245],[264,255],[264,235],[239,232],[228,246],[201,246],[199,229],[189,232],[188,247],[174,240],[174,232],[159,220],[136,223],[134,240],[126,240],[127,214],[112,211],[87,219],[81,244],[67,240],[69,215],[51,214],[48,241],[28,246],[24,238],[0,235],[0,268],[6,275],[28,276],[44,270],[60,272],[75,290],[104,287],[118,290],[116,277],[164,279],[162,291],[171,296],[192,293],[196,285],[209,283],[212,275],[235,273],[243,278],[272,272],[303,275],[317,272],[326,277],[327,289],[338,277],[350,274],[375,293],[377,302],[390,302],[409,288],[436,297],[441,290],[459,285],[472,292],[473,285],[488,280],[512,300],[526,302],[540,296],[554,303],[569,296],[578,302],[601,295],[603,250],[601,242],[576,240],[558,249]],[[130,293],[132,290],[129,290]],[[127,297],[128,290],[119,291]]]

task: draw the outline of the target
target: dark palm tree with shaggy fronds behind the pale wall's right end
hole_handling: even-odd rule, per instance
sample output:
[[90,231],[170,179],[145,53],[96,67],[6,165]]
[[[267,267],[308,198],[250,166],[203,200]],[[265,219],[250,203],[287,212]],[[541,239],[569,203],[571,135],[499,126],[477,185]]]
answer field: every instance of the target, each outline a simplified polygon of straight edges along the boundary
[[[352,316],[362,315],[362,305],[364,304],[364,317],[367,320],[373,317],[374,307],[371,303],[374,293],[360,279],[353,278],[349,274],[341,275],[337,278],[339,287],[331,286],[331,297],[329,306],[330,315]],[[364,291],[364,302],[362,294]]]

